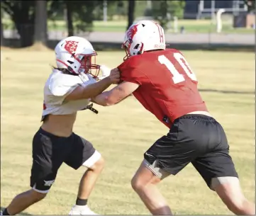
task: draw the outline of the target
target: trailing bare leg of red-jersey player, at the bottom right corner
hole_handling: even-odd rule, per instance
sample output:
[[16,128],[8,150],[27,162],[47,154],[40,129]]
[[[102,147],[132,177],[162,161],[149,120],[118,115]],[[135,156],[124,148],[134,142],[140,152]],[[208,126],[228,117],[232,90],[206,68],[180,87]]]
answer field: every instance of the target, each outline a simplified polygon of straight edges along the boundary
[[238,178],[230,180],[214,188],[218,196],[235,215],[255,215],[255,204],[243,195]]

